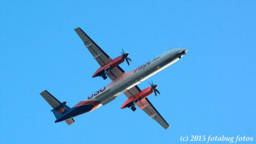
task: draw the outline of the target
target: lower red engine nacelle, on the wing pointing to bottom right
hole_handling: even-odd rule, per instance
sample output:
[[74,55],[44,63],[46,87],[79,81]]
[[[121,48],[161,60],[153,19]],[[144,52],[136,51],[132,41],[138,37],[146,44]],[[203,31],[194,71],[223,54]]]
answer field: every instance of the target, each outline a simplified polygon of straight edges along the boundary
[[149,86],[148,88],[145,88],[144,90],[142,90],[140,93],[137,93],[136,95],[134,95],[133,97],[130,97],[129,99],[127,99],[123,106],[121,107],[121,109],[127,108],[132,106],[133,102],[138,101],[139,99],[145,99],[148,95],[151,95],[153,93],[153,91],[151,90],[151,86]]

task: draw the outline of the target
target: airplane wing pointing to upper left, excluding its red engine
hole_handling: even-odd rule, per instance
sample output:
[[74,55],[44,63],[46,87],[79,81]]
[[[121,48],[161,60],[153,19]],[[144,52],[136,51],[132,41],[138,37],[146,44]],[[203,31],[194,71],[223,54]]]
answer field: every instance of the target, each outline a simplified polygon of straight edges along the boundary
[[[108,54],[106,54],[106,52],[100,49],[99,45],[93,42],[93,40],[88,35],[86,35],[86,33],[84,33],[81,28],[76,28],[75,31],[77,35],[80,36],[81,40],[83,40],[84,45],[91,52],[93,58],[99,63],[100,67],[106,65],[112,60],[108,56]],[[107,75],[113,81],[122,74],[124,74],[124,70],[121,67],[117,66],[115,68],[112,68]]]

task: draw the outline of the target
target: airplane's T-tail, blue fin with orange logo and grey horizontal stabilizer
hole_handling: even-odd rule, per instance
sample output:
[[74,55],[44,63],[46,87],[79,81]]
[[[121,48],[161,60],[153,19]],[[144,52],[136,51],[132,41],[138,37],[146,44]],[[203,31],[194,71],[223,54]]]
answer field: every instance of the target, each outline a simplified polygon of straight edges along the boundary
[[[47,92],[47,90],[40,93],[40,95],[42,95],[46,102],[48,102],[48,104],[51,105],[51,107],[53,108],[51,111],[56,117],[56,119],[61,118],[61,116],[65,115],[65,113],[67,113],[70,110],[70,108],[66,105],[67,102],[61,103],[58,99],[53,97],[51,93]],[[67,124],[70,125],[73,124],[75,120],[73,118],[70,118],[68,120],[65,120],[65,122],[67,122]]]

